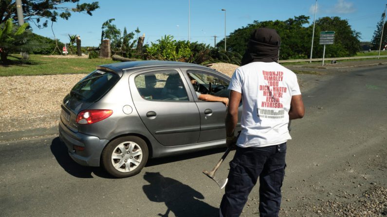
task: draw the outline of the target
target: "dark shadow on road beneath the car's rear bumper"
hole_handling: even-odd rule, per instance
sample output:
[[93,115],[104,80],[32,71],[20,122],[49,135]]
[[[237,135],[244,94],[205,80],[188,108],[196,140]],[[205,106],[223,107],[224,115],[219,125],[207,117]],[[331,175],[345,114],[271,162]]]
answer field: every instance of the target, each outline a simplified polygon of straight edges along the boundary
[[66,145],[60,141],[59,137],[53,139],[50,148],[58,164],[72,176],[77,178],[93,178],[93,173],[102,178],[113,178],[101,167],[85,167],[75,163],[67,153]]

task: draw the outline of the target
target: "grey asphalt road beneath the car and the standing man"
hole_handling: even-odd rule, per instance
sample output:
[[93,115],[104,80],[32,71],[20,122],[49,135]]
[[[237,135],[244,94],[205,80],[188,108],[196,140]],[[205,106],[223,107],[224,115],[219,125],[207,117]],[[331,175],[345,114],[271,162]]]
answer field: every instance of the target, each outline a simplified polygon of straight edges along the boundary
[[[387,187],[387,168],[380,167],[386,165],[387,66],[314,82],[317,87],[303,93],[305,117],[292,123],[281,216],[317,215],[302,206],[351,191],[365,176],[356,192],[372,182]],[[140,174],[114,179],[74,163],[56,136],[2,142],[0,216],[217,216],[223,190],[202,171],[222,151],[153,159]],[[226,177],[227,169],[225,163],[217,176]],[[257,202],[258,186],[242,216],[257,216]]]

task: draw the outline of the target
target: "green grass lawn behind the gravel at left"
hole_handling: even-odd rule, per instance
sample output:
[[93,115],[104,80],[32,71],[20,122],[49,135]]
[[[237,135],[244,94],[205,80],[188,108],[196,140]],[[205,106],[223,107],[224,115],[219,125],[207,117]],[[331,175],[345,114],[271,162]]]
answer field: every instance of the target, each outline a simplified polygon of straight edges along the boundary
[[30,54],[30,60],[20,60],[20,55],[8,56],[11,64],[0,65],[0,76],[53,75],[90,73],[96,66],[115,63],[112,59],[55,58]]

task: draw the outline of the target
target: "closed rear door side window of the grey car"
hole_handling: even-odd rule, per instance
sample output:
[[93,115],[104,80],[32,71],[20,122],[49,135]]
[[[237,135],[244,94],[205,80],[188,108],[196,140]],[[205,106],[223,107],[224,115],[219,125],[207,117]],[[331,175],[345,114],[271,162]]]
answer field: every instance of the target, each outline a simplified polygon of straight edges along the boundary
[[188,101],[183,81],[176,70],[163,70],[137,75],[136,88],[145,100]]

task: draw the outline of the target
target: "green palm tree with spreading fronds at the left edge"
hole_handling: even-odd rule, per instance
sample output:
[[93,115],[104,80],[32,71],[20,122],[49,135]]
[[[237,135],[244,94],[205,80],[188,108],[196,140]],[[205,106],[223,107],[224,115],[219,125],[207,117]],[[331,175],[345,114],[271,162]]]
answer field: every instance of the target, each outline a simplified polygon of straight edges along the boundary
[[15,26],[12,19],[8,19],[5,24],[0,25],[0,61],[2,64],[8,63],[7,56],[13,52],[26,52],[32,50],[28,39],[31,34],[27,31],[28,23]]

